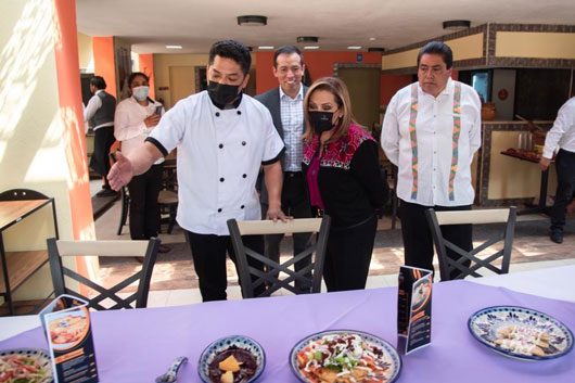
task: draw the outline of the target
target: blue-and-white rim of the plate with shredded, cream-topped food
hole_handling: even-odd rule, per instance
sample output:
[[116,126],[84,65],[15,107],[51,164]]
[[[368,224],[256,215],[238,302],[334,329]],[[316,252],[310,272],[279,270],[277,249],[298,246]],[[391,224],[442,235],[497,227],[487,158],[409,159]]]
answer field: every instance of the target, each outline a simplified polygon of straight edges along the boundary
[[388,342],[382,340],[381,337],[361,331],[328,330],[304,337],[302,341],[297,342],[296,345],[292,348],[292,352],[290,353],[290,367],[292,368],[292,371],[297,376],[297,379],[299,379],[299,381],[304,383],[309,383],[309,380],[304,376],[304,374],[299,370],[299,366],[297,363],[297,354],[305,349],[307,346],[309,346],[309,342],[319,341],[325,335],[336,334],[359,335],[361,340],[368,345],[379,347],[383,352],[383,359],[385,361],[385,366],[387,367],[387,370],[384,372],[385,383],[393,383],[395,382],[397,376],[399,376],[399,372],[401,371],[401,358],[399,357],[399,354],[397,354],[395,347],[392,346]]

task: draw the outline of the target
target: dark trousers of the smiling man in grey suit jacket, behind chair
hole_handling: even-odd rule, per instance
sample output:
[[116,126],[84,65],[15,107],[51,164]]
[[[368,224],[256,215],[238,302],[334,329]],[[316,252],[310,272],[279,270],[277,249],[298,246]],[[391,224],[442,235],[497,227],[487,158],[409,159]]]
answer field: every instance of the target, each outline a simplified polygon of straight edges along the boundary
[[[309,197],[305,186],[304,174],[302,171],[283,174],[283,188],[281,193],[281,206],[285,215],[294,218],[311,218],[311,208]],[[267,204],[261,204],[263,219],[266,218],[268,210]],[[265,235],[266,250],[265,255],[271,260],[280,263],[280,242],[283,234]],[[305,251],[310,244],[311,233],[293,234],[294,255]],[[306,258],[295,264],[295,271],[298,271],[309,265],[311,259]],[[311,273],[309,273],[311,278]],[[298,283],[296,282],[296,286]]]

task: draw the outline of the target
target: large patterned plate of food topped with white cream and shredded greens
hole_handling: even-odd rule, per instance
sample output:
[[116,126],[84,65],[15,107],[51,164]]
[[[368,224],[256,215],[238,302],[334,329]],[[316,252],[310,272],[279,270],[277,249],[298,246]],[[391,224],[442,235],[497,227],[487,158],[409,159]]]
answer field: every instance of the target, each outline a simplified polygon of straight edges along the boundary
[[309,335],[292,348],[290,366],[304,383],[392,383],[401,358],[386,341],[361,331],[329,330]]

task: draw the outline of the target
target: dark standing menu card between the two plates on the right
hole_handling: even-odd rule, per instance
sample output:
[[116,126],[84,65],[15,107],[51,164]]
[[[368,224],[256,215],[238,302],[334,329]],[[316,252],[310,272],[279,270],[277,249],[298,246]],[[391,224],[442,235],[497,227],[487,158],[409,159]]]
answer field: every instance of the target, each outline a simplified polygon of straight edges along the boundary
[[433,272],[401,266],[397,296],[397,349],[405,355],[431,342]]

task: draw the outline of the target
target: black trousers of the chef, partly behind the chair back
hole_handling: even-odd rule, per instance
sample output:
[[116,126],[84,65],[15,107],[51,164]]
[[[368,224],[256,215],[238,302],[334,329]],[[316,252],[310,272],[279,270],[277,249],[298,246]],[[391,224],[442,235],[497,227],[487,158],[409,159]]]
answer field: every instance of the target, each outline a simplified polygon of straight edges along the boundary
[[[192,251],[195,273],[200,280],[202,301],[226,301],[228,296],[226,294],[226,289],[228,286],[226,252],[230,255],[231,260],[235,265],[238,276],[240,276],[230,235],[199,234],[188,230],[184,230],[184,232],[186,239]],[[244,235],[242,237],[242,241],[246,247],[250,247],[259,254],[264,254],[263,235]],[[247,263],[254,268],[264,270],[264,264],[252,257],[247,257]],[[257,278],[253,278],[253,280]],[[258,295],[263,293],[264,290],[265,286],[261,285],[254,291],[254,294]]]

